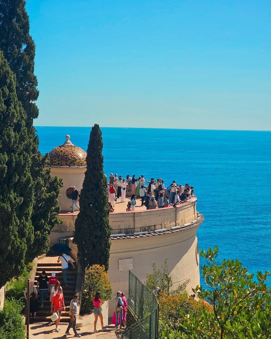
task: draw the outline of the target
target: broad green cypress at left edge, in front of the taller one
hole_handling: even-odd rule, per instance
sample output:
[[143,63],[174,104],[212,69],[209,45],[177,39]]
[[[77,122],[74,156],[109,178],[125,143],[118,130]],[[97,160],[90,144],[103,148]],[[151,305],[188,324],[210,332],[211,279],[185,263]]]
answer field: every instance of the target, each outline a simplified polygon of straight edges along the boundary
[[22,272],[34,238],[31,143],[15,84],[0,51],[0,286]]

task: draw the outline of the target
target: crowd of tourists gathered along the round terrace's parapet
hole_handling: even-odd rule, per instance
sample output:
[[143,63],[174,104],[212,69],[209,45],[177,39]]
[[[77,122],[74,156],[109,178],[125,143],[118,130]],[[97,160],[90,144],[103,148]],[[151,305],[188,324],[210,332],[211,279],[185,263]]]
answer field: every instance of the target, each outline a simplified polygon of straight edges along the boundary
[[[148,183],[148,185],[145,184]],[[108,205],[110,212],[114,212],[114,206],[117,199],[121,199],[121,202],[125,202],[126,192],[131,191],[131,199],[128,201],[126,211],[134,211],[136,207],[136,200],[140,199],[141,205],[145,206],[147,210],[155,208],[169,207],[170,205],[176,206],[182,204],[191,197],[194,196],[194,187],[185,185],[178,185],[173,180],[172,183],[166,188],[164,180],[158,178],[150,181],[144,178],[144,175],[136,177],[129,175],[126,178],[122,176],[118,177],[118,174],[113,176],[113,173],[109,176],[108,184]]]

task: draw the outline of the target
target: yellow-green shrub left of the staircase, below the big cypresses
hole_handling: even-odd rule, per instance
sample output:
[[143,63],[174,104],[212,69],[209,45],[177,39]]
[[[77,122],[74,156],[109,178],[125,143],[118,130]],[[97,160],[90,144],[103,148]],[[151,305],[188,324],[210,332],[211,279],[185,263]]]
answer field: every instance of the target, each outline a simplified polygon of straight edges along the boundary
[[[29,278],[29,272],[32,270],[34,264],[30,262],[24,267],[22,274],[19,277],[14,277],[6,284],[6,299],[12,298],[20,300],[23,297],[23,292],[27,287],[27,279]],[[24,300],[24,299],[22,299]]]

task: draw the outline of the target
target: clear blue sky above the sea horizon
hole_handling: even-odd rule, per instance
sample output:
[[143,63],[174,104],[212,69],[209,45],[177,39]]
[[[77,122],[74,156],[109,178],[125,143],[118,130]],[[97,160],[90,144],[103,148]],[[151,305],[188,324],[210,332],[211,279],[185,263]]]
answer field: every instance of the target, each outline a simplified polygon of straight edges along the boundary
[[271,2],[28,0],[35,125],[271,130]]

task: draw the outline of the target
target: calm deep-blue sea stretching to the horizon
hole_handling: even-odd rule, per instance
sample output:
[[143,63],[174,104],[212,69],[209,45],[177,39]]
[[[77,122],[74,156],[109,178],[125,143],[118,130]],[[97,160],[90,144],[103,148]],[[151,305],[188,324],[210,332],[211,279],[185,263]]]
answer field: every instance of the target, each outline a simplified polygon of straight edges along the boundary
[[[91,127],[36,128],[42,154],[66,134],[87,150]],[[199,248],[218,245],[220,259],[239,259],[254,274],[271,271],[271,132],[101,129],[107,176],[161,177],[166,187],[172,180],[188,182],[205,216]]]

